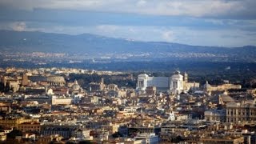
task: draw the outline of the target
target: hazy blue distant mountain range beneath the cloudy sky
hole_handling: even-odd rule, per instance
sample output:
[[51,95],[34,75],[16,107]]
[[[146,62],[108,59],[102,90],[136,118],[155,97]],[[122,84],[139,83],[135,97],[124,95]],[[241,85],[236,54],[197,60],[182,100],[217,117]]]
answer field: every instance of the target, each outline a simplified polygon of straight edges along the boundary
[[[148,54],[159,58],[214,58],[256,62],[256,46],[190,46],[171,42],[138,42],[94,34],[50,34],[0,30],[0,50],[10,52],[51,52],[67,54]],[[143,55],[142,55],[143,56]]]

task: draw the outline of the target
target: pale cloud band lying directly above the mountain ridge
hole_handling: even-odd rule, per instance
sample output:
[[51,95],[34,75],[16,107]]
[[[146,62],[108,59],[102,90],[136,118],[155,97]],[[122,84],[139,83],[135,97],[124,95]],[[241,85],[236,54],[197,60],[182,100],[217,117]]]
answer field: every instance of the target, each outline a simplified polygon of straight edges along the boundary
[[[254,22],[252,22],[254,23]],[[178,42],[201,46],[246,46],[256,45],[256,32],[253,30],[193,29],[186,26],[60,26],[34,22],[0,22],[4,30],[42,31],[59,34],[98,34],[112,38],[132,38],[138,41]]]

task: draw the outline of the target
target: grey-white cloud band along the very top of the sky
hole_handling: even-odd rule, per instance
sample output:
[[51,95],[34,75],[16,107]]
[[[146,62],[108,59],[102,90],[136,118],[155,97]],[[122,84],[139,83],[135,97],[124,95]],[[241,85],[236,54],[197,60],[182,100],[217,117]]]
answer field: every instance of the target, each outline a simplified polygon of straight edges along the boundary
[[50,8],[194,17],[256,14],[255,0],[2,0],[0,5],[25,10]]

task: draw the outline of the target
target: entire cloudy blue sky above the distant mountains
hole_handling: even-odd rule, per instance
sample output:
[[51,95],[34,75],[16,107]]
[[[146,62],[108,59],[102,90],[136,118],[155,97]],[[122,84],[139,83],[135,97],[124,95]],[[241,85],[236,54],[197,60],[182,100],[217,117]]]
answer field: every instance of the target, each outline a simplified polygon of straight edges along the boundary
[[0,0],[0,29],[256,46],[256,0]]

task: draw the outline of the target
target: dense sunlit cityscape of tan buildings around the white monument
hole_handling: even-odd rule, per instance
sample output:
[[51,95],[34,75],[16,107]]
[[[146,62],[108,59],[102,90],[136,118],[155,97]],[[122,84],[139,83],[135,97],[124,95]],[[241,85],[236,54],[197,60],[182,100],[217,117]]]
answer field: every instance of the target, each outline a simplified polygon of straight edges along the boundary
[[[97,78],[82,87],[72,74]],[[106,84],[102,75],[119,81]],[[123,85],[127,80],[136,87]],[[178,70],[170,77],[134,77],[11,67],[1,69],[0,83],[0,139],[6,143],[256,142],[256,89],[229,80],[200,85]]]

